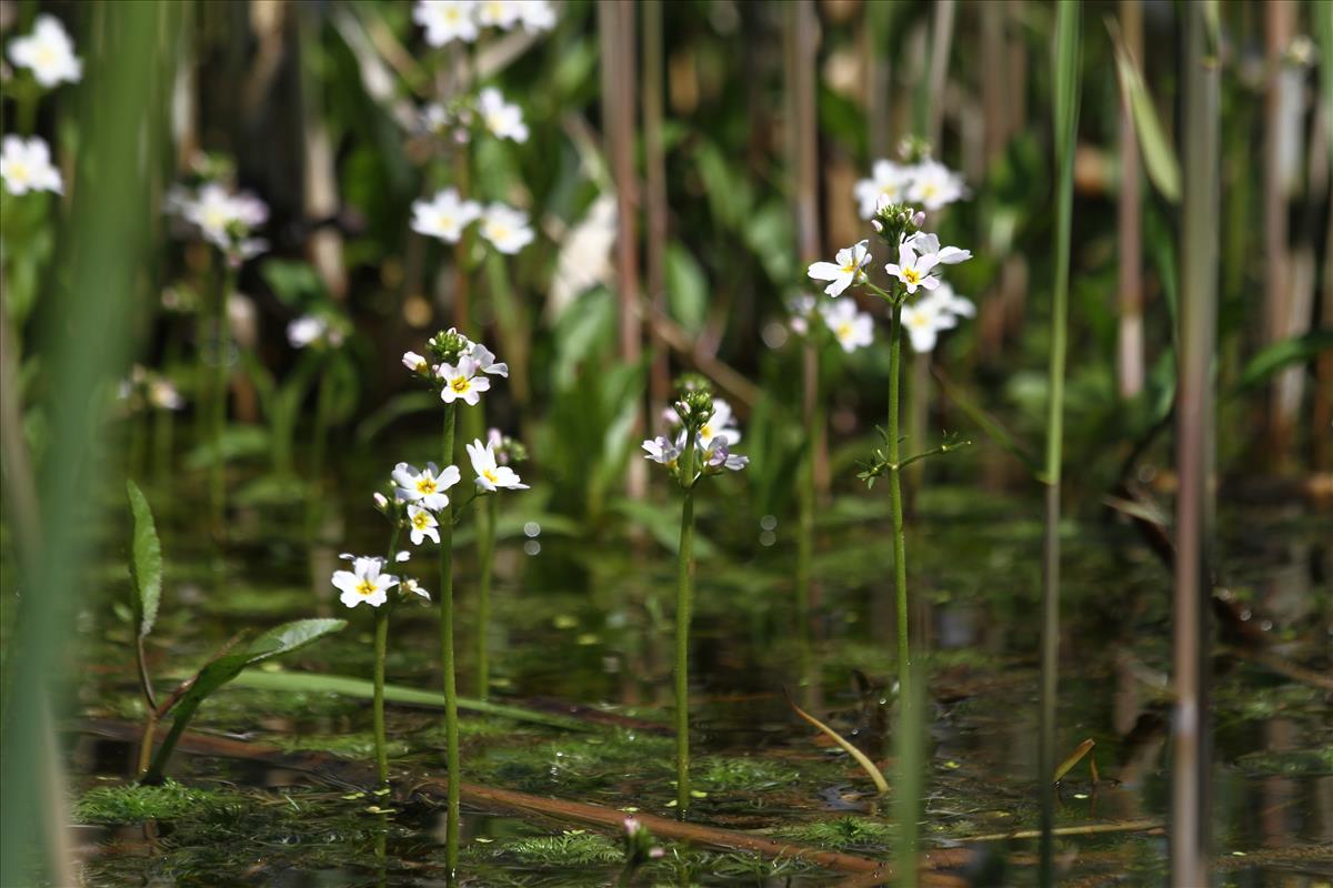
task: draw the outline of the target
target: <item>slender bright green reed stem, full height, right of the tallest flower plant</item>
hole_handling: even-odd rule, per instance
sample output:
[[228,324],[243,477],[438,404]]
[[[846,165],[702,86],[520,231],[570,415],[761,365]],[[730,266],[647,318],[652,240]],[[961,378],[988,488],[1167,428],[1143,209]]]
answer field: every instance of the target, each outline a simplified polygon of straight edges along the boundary
[[1041,728],[1037,785],[1041,799],[1041,863],[1038,881],[1053,884],[1056,771],[1056,692],[1060,670],[1060,463],[1064,447],[1065,354],[1069,324],[1069,240],[1073,228],[1073,161],[1078,130],[1078,40],[1081,9],[1077,3],[1056,8],[1056,280],[1052,294],[1050,399],[1046,411],[1046,521],[1041,584]]

